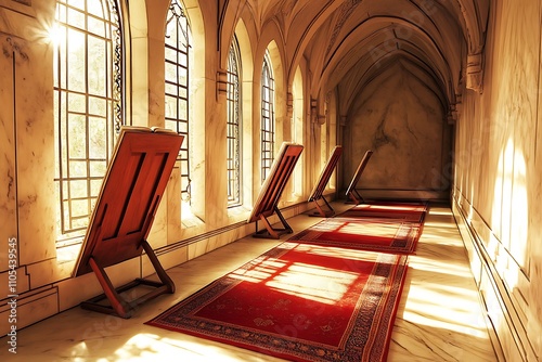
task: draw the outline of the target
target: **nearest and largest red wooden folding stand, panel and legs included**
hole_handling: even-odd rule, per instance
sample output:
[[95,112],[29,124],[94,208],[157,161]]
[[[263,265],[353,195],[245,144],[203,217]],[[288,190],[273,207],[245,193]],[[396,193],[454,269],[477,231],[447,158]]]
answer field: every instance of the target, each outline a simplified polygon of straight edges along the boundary
[[[175,292],[146,237],[183,139],[168,130],[121,128],[74,270],[74,276],[93,272],[104,293],[81,302],[82,308],[127,319],[136,306]],[[115,288],[105,268],[143,251],[160,282],[136,279]],[[140,284],[154,289],[131,301],[120,295]],[[109,306],[100,303],[105,298]]]

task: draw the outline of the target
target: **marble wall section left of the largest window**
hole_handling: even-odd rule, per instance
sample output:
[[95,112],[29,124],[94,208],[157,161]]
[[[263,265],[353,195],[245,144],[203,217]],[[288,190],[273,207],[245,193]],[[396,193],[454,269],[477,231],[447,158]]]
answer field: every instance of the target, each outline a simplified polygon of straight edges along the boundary
[[[7,117],[12,125],[10,129],[4,128],[7,137],[11,138],[5,143],[5,148],[2,142],[2,151],[10,150],[11,145],[12,153],[2,152],[2,159],[14,171],[11,176],[7,172],[8,180],[17,181],[16,196],[2,193],[2,197],[7,195],[7,199],[2,198],[1,202],[2,205],[5,204],[2,211],[9,212],[5,218],[2,217],[2,220],[9,222],[5,229],[2,228],[2,232],[17,237],[20,264],[54,254],[54,238],[48,237],[54,220],[42,218],[43,215],[53,214],[49,199],[53,194],[53,174],[50,173],[54,166],[53,147],[46,140],[52,142],[53,130],[52,49],[47,37],[47,24],[51,22],[47,20],[54,14],[54,1],[41,1],[36,7],[25,7],[13,1],[0,5],[3,61],[8,60],[10,63],[4,69],[10,76],[4,78],[7,81],[2,81],[1,86],[2,125],[8,126]],[[4,34],[11,36],[5,37]],[[2,67],[5,67],[8,63],[3,61]],[[11,190],[15,192],[14,188]],[[14,204],[10,203],[10,197],[16,197],[18,210],[15,211],[12,207]],[[14,228],[20,230],[18,235],[13,232]],[[3,263],[4,259],[1,260]]]

